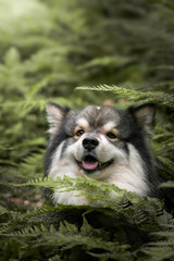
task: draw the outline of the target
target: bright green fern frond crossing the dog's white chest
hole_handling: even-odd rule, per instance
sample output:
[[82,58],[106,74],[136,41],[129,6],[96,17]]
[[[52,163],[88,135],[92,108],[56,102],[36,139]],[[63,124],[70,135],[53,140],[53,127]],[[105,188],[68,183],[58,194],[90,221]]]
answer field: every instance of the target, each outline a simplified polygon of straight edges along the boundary
[[[113,184],[99,182],[88,176],[83,176],[83,177],[79,176],[77,178],[71,178],[64,175],[62,178],[58,177],[57,181],[53,181],[51,177],[47,177],[45,179],[40,177],[40,178],[32,179],[25,184],[20,184],[20,185],[14,184],[14,185],[15,186],[32,185],[32,186],[47,187],[47,188],[57,190],[59,192],[79,190],[79,195],[77,195],[77,197],[85,195],[90,200],[102,199],[103,202],[105,203],[110,202],[111,204],[113,204],[114,202],[116,203],[116,200],[112,200],[112,198],[110,197],[110,192],[115,191],[119,196],[130,194],[130,192],[127,192],[125,189],[120,189]],[[132,194],[132,195],[134,195],[133,197],[134,202],[136,201],[136,198],[137,198],[137,201],[139,200],[138,195],[136,194]],[[132,197],[129,197],[129,200],[132,200]]]

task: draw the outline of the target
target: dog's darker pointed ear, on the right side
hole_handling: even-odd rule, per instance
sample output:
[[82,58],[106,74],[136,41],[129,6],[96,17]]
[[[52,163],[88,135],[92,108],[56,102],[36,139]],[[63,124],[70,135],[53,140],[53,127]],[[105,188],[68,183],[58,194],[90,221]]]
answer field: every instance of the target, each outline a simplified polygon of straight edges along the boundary
[[129,113],[138,124],[138,126],[150,138],[154,126],[156,109],[153,103],[144,103],[139,107],[128,108]]

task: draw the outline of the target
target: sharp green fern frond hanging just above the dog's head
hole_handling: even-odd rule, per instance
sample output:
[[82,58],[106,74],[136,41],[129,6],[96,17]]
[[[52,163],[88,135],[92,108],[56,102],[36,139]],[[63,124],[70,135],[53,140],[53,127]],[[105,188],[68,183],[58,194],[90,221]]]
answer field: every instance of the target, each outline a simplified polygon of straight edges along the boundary
[[162,91],[140,91],[135,89],[128,89],[117,87],[115,85],[99,85],[95,87],[77,87],[76,90],[98,90],[98,91],[111,91],[115,95],[125,96],[129,100],[144,100],[147,102],[157,102],[174,108],[174,96]]

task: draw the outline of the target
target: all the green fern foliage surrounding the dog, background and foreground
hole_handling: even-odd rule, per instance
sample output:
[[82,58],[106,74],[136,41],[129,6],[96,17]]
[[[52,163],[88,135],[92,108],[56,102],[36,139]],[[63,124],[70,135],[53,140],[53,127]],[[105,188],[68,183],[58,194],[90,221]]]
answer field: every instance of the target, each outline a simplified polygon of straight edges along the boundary
[[[173,260],[174,3],[0,0],[0,261]],[[163,201],[87,177],[42,181],[50,100],[122,109],[154,102],[152,146],[171,213]],[[100,207],[53,207],[42,187],[79,190],[78,197],[85,194]],[[120,195],[115,200],[113,190]]]

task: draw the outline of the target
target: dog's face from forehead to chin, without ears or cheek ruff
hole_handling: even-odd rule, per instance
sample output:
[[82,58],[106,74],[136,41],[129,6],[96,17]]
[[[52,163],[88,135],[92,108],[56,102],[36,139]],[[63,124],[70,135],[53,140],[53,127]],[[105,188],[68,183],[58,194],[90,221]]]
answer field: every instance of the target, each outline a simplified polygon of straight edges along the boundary
[[103,179],[116,162],[124,160],[126,137],[121,137],[120,121],[120,113],[111,107],[90,105],[76,114],[71,148],[82,174]]

